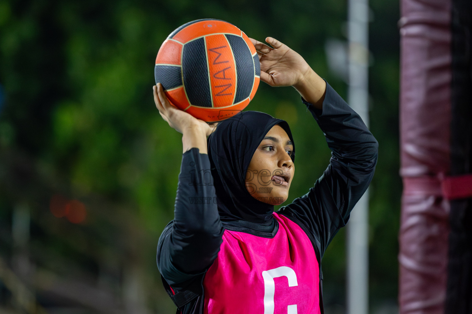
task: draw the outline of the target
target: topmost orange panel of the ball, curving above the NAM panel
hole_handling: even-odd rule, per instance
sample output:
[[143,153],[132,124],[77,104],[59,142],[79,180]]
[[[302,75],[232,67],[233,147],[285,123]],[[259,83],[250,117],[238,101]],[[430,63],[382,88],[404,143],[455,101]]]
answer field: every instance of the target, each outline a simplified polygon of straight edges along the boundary
[[228,22],[223,21],[207,20],[188,25],[180,32],[175,34],[172,39],[185,44],[189,40],[193,40],[195,38],[209,35],[215,32],[241,35],[241,30],[233,24],[229,24]]

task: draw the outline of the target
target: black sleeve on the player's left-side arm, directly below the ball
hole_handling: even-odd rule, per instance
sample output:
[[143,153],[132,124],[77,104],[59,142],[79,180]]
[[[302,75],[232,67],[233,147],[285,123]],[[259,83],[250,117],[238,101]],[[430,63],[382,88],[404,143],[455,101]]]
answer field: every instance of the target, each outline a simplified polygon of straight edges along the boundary
[[174,221],[160,236],[157,252],[160,273],[170,284],[203,271],[218,255],[224,229],[210,168],[207,154],[191,149],[182,155]]

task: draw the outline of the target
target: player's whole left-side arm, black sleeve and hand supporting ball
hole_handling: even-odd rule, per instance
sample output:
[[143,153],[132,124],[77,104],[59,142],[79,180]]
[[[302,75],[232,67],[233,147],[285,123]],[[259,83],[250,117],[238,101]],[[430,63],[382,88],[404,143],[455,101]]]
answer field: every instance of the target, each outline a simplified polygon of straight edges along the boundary
[[169,284],[175,284],[209,266],[221,244],[223,229],[213,201],[215,189],[201,182],[203,174],[210,171],[207,136],[217,123],[208,124],[172,106],[160,83],[153,93],[162,119],[183,134],[174,220],[162,232],[157,250],[160,273]]

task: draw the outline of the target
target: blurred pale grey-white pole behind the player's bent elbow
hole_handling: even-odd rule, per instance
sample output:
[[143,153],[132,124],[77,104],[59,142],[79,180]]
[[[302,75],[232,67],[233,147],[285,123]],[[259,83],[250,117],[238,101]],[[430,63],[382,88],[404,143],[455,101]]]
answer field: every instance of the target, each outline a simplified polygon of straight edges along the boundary
[[[369,4],[348,1],[348,103],[369,126]],[[355,205],[347,224],[347,314],[369,313],[369,191]]]

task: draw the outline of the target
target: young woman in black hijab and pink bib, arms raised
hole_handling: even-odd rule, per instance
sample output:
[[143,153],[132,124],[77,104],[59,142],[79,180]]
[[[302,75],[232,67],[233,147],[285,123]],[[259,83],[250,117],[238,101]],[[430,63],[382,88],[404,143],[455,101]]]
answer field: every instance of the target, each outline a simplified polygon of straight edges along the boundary
[[359,115],[295,51],[252,41],[261,80],[295,87],[332,157],[305,195],[274,212],[295,175],[287,122],[243,111],[208,124],[154,87],[160,115],[183,134],[175,218],[157,250],[177,313],[323,313],[321,258],[374,174],[378,144]]

